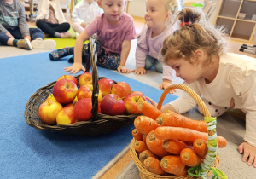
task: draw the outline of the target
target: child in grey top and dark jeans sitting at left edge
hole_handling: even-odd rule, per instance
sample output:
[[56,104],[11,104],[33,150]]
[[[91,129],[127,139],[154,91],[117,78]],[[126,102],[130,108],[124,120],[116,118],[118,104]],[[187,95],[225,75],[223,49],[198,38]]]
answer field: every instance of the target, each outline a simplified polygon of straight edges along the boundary
[[55,49],[56,46],[54,40],[44,40],[40,29],[28,28],[24,4],[18,0],[0,1],[0,43],[24,49]]

